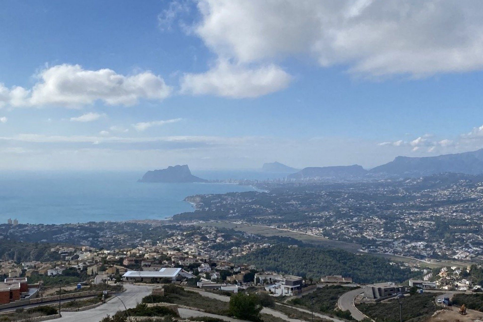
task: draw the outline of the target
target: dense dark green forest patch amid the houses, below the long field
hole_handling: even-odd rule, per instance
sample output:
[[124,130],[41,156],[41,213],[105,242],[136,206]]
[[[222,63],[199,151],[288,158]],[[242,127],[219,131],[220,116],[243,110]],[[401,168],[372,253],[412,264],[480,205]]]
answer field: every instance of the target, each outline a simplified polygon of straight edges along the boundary
[[387,259],[381,257],[315,247],[276,245],[234,257],[232,261],[236,264],[250,263],[258,269],[313,279],[326,275],[342,275],[352,277],[358,283],[401,282],[414,276],[409,268],[391,265]]

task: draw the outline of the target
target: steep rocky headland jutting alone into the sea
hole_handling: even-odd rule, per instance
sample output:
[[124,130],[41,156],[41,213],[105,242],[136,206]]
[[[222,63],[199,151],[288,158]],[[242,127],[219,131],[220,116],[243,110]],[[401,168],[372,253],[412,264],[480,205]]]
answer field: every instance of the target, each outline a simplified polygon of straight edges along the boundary
[[146,172],[138,182],[208,182],[191,174],[187,165]]

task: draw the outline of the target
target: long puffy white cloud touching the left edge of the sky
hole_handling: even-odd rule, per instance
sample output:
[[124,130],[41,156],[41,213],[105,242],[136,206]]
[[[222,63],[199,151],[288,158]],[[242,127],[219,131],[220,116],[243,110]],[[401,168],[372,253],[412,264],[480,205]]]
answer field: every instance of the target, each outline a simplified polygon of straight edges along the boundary
[[140,99],[162,100],[171,87],[150,71],[125,76],[114,70],[85,70],[80,65],[62,64],[41,70],[31,88],[0,84],[2,106],[81,107],[102,101],[108,105],[134,105]]

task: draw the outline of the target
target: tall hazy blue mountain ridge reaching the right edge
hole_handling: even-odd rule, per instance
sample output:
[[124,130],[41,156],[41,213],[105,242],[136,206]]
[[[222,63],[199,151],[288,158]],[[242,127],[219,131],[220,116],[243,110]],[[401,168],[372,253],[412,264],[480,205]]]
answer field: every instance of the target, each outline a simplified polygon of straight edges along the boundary
[[483,149],[426,157],[398,156],[394,161],[369,170],[369,173],[397,176],[422,176],[441,172],[482,174]]

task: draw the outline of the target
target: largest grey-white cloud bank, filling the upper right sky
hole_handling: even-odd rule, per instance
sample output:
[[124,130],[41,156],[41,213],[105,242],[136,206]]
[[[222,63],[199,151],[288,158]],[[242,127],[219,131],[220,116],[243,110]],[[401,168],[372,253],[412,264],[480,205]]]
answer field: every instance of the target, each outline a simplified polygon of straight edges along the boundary
[[371,76],[483,68],[479,0],[199,0],[195,32],[219,57],[313,57]]

